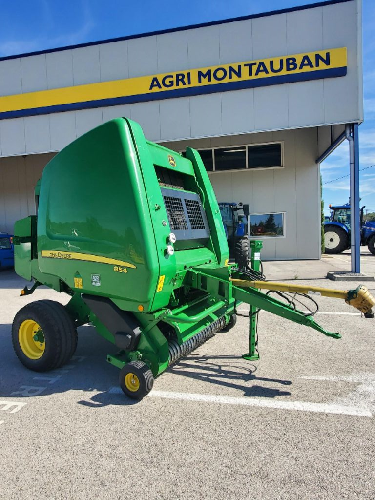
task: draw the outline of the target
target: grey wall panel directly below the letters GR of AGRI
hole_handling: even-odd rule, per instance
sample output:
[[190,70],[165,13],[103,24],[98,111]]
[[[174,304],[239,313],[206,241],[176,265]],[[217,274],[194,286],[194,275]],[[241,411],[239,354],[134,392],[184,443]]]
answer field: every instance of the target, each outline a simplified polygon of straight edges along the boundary
[[161,100],[159,102],[159,109],[160,137],[178,139],[191,135],[188,97]]

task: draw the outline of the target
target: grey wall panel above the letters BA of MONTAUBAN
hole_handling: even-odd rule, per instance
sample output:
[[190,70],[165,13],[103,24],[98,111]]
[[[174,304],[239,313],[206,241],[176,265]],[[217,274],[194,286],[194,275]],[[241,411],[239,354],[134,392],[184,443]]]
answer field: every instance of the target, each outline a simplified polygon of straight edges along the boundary
[[286,53],[313,52],[323,48],[322,14],[323,7],[286,14]]

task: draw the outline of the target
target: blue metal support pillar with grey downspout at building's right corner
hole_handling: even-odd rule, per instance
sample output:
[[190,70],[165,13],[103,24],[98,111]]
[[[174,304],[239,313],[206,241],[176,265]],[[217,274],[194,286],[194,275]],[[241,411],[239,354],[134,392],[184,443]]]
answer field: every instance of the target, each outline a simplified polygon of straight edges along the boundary
[[360,272],[359,143],[358,123],[346,125],[350,158],[350,254],[351,272]]

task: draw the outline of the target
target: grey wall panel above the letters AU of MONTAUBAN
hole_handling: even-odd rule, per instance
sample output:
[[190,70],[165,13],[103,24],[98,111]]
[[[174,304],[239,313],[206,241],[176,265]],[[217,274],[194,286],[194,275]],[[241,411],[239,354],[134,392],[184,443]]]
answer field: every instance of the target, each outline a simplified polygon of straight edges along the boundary
[[253,58],[260,59],[286,53],[286,14],[252,19]]

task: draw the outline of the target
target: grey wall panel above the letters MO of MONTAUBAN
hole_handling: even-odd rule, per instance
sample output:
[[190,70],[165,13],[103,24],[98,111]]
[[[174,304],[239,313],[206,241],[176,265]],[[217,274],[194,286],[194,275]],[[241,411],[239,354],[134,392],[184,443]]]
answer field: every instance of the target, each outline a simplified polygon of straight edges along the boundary
[[187,31],[189,68],[217,64],[219,53],[219,27],[207,26]]

